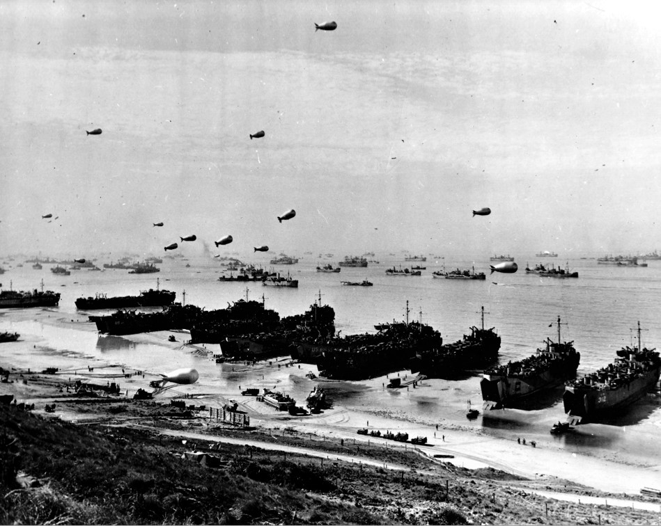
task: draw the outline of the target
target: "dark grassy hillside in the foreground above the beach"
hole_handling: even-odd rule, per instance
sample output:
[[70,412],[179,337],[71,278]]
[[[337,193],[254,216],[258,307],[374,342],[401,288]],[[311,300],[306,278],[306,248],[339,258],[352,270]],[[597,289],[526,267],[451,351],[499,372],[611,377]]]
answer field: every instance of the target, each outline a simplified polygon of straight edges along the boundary
[[[163,422],[155,404],[95,407],[108,419],[140,415],[144,423],[152,412],[155,423]],[[0,429],[2,524],[659,522],[656,513],[545,500],[513,488],[514,478],[501,472],[430,466],[411,452],[377,446],[361,447],[361,454],[381,452],[418,471],[331,461],[322,467],[309,456],[212,440],[196,444],[197,452],[209,453],[199,463],[189,442],[156,429],[81,426],[10,406],[0,406]]]

